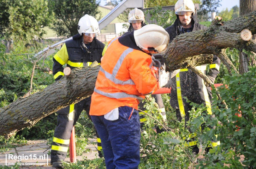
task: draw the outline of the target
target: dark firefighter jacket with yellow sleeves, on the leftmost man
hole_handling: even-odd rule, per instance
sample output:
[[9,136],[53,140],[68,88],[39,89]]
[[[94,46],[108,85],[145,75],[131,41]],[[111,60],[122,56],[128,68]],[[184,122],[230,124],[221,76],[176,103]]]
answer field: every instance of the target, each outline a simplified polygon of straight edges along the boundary
[[76,67],[89,66],[93,61],[101,62],[101,57],[106,51],[106,46],[96,38],[90,43],[89,49],[82,47],[82,36],[77,34],[68,40],[53,57],[53,76],[59,80],[63,73],[63,65],[74,69]]

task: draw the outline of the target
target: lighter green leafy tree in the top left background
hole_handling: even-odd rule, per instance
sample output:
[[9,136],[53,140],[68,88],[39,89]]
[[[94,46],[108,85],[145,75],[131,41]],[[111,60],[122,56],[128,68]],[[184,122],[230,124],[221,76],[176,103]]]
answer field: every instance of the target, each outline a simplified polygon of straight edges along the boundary
[[53,15],[48,11],[47,0],[8,1],[10,29],[13,40],[30,42],[35,37],[42,38],[42,27],[48,26]]

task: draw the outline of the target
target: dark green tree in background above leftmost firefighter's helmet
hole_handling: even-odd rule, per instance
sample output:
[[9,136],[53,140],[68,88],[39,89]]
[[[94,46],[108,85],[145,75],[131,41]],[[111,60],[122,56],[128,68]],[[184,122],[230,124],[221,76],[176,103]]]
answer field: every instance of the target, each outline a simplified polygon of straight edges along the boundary
[[[73,36],[77,34],[78,21],[85,14],[96,16],[99,11],[97,0],[49,0],[49,9],[55,13],[53,28],[58,35]],[[98,18],[96,18],[98,19]]]

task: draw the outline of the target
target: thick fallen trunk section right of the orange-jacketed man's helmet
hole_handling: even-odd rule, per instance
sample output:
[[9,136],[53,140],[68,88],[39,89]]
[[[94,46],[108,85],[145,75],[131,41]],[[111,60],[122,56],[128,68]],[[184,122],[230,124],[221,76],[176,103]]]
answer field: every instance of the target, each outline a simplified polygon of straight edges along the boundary
[[242,17],[223,22],[223,26],[212,25],[206,30],[183,33],[168,45],[164,58],[169,71],[198,66],[212,61],[210,55],[216,51],[234,47],[244,48],[248,41],[240,37],[240,32],[248,29],[256,33],[256,11]]

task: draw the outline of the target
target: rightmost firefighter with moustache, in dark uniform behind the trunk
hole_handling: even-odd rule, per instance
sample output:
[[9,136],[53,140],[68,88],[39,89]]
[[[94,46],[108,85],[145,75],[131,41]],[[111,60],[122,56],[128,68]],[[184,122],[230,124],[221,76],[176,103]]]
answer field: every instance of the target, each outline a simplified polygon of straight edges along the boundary
[[[166,31],[169,33],[170,42],[177,35],[186,32],[198,31],[205,29],[206,27],[199,24],[197,19],[195,5],[192,0],[178,0],[174,6],[174,11],[177,16],[177,19],[174,21],[172,26],[166,28]],[[196,66],[198,70],[206,74],[207,65]],[[214,55],[212,64],[210,64],[210,70],[207,76],[214,83],[216,76],[219,74],[220,59]],[[197,104],[204,104],[207,107],[207,113],[212,115],[211,109],[211,99],[212,92],[210,87],[206,87],[204,81],[196,73],[192,72],[190,69],[180,69],[180,72],[176,74],[174,78],[171,79],[171,99],[170,104],[173,109],[176,110],[176,116],[179,121],[182,118],[185,118],[186,122],[189,121],[189,112],[192,108],[189,103],[186,103],[187,97],[190,101]],[[190,138],[190,141],[187,142],[187,145],[192,147],[192,151],[195,154],[198,154],[199,149],[197,147],[196,141]],[[219,142],[212,141],[212,147],[219,145]]]

